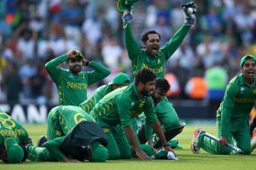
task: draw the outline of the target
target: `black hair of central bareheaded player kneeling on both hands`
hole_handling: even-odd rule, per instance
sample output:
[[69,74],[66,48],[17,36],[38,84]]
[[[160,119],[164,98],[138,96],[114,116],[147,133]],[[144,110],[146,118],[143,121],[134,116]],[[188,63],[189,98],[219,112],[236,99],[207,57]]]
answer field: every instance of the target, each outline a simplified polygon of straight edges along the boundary
[[155,78],[156,75],[153,71],[150,71],[149,69],[142,69],[137,72],[135,77],[135,85],[137,86],[139,82],[143,82],[143,84],[145,84],[146,82],[154,81]]

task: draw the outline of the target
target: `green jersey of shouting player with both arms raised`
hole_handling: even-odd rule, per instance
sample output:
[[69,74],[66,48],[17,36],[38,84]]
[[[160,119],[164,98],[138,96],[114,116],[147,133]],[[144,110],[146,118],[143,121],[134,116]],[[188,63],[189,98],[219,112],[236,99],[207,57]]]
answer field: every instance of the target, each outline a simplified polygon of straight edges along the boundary
[[172,37],[166,42],[166,45],[160,48],[158,54],[153,57],[146,53],[132,35],[131,24],[125,29],[125,45],[127,48],[129,59],[131,59],[132,75],[136,76],[137,71],[148,68],[154,71],[157,77],[165,77],[166,60],[176,51],[178,46],[183,42],[184,37],[188,34],[190,26],[182,26]]

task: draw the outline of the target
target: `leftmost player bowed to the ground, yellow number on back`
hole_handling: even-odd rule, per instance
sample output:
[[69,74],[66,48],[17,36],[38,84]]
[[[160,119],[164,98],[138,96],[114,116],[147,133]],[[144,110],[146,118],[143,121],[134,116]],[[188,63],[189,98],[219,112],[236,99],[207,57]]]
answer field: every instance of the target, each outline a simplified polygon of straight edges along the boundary
[[26,129],[0,109],[0,160],[6,163],[26,161]]

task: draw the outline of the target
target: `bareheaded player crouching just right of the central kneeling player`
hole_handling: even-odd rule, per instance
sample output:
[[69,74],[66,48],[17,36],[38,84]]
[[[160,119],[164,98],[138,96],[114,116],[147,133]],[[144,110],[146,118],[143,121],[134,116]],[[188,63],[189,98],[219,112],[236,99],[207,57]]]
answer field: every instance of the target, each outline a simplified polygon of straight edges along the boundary
[[[181,133],[183,130],[183,126],[179,123],[179,118],[171,105],[165,105],[166,103],[159,102],[166,97],[167,92],[170,90],[170,84],[165,78],[158,78],[155,81],[155,90],[154,94],[152,94],[152,98],[154,99],[154,109],[156,111],[156,116],[161,124],[164,127],[164,132],[166,136],[166,140],[174,138],[178,133]],[[173,114],[168,114],[169,111],[172,111]],[[154,146],[154,148],[160,148],[162,144],[160,141],[152,141],[153,138],[153,130],[150,127],[148,122],[143,123],[143,125],[139,128],[138,139],[141,143],[148,142],[149,145]]]

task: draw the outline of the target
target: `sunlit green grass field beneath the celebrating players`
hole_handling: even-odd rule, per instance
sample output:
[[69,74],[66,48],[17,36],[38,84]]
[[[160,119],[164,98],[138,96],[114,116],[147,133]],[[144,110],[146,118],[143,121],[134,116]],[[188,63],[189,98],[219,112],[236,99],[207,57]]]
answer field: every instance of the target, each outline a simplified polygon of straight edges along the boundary
[[[30,134],[34,144],[40,135],[45,134],[46,127],[44,125],[25,125]],[[184,127],[183,133],[177,136],[179,144],[183,146],[183,150],[175,150],[178,161],[170,160],[154,160],[154,161],[140,161],[138,159],[108,161],[105,163],[64,163],[64,162],[32,162],[26,161],[23,164],[8,165],[0,161],[0,169],[4,170],[115,170],[115,169],[130,169],[130,170],[148,170],[148,169],[195,169],[195,170],[216,170],[216,169],[239,169],[239,170],[253,170],[256,169],[256,151],[250,156],[230,155],[230,156],[215,156],[207,154],[204,150],[201,153],[194,155],[190,150],[190,140],[192,139],[195,129],[199,127],[196,125],[187,125]],[[215,134],[214,125],[200,126],[208,133]]]

